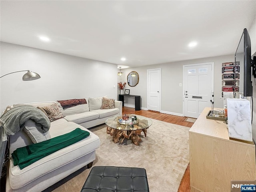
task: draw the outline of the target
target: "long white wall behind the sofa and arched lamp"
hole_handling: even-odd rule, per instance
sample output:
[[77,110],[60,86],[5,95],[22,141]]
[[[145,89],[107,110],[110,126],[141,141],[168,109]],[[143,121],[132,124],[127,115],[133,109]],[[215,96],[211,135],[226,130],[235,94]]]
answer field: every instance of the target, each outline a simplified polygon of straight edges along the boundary
[[[108,95],[116,99],[116,64],[0,43],[0,75],[32,70],[41,78],[22,81],[26,72],[0,79],[0,111],[7,105]],[[116,88],[113,88],[113,86]]]

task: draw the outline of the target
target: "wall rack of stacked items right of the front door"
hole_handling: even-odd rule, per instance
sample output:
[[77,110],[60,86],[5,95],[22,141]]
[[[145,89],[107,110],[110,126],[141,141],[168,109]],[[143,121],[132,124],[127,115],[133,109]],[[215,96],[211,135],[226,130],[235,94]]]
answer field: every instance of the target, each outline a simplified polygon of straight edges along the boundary
[[222,63],[222,92],[239,91],[240,62]]

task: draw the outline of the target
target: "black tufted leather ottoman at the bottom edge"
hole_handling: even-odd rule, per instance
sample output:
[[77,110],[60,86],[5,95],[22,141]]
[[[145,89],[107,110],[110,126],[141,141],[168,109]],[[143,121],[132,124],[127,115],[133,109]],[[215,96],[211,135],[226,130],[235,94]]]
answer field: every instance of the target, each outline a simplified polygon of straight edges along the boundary
[[81,192],[149,192],[144,168],[95,166]]

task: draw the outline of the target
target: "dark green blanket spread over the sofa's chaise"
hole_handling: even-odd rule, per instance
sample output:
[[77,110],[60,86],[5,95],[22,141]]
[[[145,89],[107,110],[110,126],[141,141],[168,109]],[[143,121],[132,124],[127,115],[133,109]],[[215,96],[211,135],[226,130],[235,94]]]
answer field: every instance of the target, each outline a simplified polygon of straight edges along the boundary
[[14,166],[20,169],[62,149],[70,146],[90,135],[89,132],[76,128],[74,131],[60,135],[49,140],[17,148],[12,153]]

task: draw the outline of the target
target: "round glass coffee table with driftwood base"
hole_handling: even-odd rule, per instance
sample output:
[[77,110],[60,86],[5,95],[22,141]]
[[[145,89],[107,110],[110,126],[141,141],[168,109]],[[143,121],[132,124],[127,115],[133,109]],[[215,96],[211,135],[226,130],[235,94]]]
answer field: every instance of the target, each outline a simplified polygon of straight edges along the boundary
[[[152,125],[150,118],[146,118],[140,115],[128,115],[130,120],[122,120],[121,116],[114,116],[108,118],[105,123],[107,125],[107,134],[113,136],[114,143],[119,142],[120,138],[123,138],[120,143],[124,142],[124,139],[131,139],[135,145],[140,145],[142,141],[140,138],[141,132],[144,132],[146,137],[147,129]],[[136,116],[137,120],[131,120],[132,116]],[[136,119],[135,118],[135,119]]]

